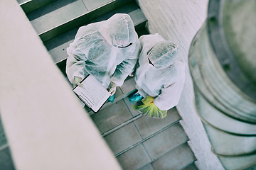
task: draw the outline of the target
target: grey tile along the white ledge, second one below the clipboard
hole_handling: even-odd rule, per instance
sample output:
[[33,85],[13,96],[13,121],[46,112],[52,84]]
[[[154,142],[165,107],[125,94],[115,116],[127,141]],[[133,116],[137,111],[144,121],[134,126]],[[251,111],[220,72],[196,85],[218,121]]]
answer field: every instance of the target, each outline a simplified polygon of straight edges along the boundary
[[112,152],[114,152],[114,154],[118,154],[124,149],[127,149],[141,141],[142,137],[139,135],[134,123],[129,123],[123,128],[110,133],[110,135],[107,135],[105,140],[112,149]]

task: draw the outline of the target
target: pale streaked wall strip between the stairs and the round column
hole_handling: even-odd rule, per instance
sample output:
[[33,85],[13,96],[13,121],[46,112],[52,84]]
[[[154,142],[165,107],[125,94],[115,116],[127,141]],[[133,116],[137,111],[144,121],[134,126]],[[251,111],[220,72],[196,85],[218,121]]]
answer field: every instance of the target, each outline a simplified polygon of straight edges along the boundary
[[139,0],[150,33],[159,33],[166,40],[176,42],[178,57],[187,64],[186,84],[176,108],[182,117],[181,125],[186,131],[198,162],[198,169],[223,169],[219,160],[210,152],[210,142],[196,113],[193,101],[193,83],[188,72],[188,50],[194,35],[207,17],[207,0]]

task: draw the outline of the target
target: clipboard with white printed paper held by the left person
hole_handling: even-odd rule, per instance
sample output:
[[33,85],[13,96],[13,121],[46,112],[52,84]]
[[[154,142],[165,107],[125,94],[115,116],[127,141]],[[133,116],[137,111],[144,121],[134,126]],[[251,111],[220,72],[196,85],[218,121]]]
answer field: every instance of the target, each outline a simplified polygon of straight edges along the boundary
[[82,79],[80,83],[83,86],[75,86],[73,91],[88,108],[97,113],[110,97],[110,93],[91,74]]

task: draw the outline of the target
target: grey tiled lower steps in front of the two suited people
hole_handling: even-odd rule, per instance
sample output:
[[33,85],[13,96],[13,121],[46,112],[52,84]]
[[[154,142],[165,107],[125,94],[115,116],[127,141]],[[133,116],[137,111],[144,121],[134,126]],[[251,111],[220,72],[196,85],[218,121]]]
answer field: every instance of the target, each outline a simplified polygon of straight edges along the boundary
[[129,78],[119,89],[119,100],[91,115],[122,168],[183,169],[193,164],[196,158],[188,147],[176,108],[164,119],[140,115],[127,95],[134,91],[134,83]]

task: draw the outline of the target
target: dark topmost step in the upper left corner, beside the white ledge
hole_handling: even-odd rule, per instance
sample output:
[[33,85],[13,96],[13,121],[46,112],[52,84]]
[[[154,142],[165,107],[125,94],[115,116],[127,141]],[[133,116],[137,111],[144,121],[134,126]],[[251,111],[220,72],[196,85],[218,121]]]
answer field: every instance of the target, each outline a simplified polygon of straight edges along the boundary
[[46,6],[55,0],[17,0],[25,13],[35,11],[38,8]]

